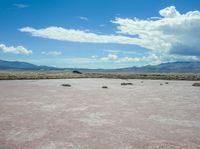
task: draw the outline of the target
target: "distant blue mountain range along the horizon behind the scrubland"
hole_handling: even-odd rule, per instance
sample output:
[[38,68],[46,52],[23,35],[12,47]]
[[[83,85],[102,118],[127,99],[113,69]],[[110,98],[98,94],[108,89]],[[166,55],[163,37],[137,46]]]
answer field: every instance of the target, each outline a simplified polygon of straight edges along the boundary
[[82,69],[82,68],[57,68],[50,66],[38,66],[27,62],[0,60],[0,70],[79,70],[84,72],[136,72],[136,73],[200,73],[200,62],[169,62],[159,65],[147,65],[142,67],[128,67],[120,69]]

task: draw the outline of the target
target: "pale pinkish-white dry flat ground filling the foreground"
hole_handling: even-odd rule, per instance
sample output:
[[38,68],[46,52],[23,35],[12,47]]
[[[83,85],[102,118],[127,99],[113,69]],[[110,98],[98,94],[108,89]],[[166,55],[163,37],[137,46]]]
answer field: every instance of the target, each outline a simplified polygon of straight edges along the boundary
[[192,81],[122,82],[0,81],[0,148],[200,148],[200,87]]

